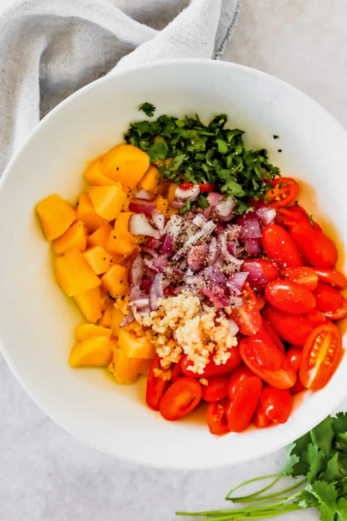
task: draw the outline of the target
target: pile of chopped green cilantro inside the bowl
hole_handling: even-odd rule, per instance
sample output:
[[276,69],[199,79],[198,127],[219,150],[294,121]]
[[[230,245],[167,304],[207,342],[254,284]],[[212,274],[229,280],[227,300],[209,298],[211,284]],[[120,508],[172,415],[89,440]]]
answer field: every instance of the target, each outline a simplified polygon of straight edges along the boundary
[[[146,104],[143,104],[146,105]],[[176,183],[215,184],[217,190],[232,195],[242,214],[250,200],[259,200],[271,188],[269,181],[279,169],[268,162],[265,148],[248,150],[243,130],[225,128],[227,116],[214,116],[204,125],[199,116],[159,116],[155,121],[131,123],[124,134],[127,143],[159,162],[164,178]]]

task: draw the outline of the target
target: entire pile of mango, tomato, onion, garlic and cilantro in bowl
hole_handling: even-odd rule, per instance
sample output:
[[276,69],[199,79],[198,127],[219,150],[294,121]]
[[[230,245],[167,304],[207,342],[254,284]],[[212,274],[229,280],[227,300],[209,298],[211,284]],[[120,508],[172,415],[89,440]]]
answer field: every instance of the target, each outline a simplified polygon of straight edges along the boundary
[[215,435],[285,423],[292,396],[338,367],[347,315],[337,249],[298,183],[225,123],[131,123],[126,144],[88,164],[76,207],[37,205],[86,320],[70,365],[107,366],[119,383],[148,374],[150,408],[177,420],[206,402]]

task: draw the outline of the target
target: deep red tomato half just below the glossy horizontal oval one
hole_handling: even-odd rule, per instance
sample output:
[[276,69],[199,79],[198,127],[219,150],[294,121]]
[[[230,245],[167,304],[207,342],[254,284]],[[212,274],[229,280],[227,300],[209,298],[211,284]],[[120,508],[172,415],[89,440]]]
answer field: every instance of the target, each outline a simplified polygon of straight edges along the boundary
[[304,345],[314,324],[306,315],[294,315],[266,305],[263,316],[278,336],[294,345]]

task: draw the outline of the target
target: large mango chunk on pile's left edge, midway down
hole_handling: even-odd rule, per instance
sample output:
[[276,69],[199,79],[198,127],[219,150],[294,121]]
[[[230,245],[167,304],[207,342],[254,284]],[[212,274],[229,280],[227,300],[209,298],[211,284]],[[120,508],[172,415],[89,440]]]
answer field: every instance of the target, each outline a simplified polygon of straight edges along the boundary
[[100,285],[95,275],[79,250],[67,250],[65,255],[56,259],[56,276],[61,288],[74,296],[92,290]]

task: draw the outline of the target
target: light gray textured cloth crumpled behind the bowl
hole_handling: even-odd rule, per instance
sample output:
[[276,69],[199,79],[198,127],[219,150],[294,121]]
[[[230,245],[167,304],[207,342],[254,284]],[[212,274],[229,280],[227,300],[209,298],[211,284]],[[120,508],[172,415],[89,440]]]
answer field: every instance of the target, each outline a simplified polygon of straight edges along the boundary
[[153,60],[219,57],[238,11],[239,0],[0,0],[0,173],[83,85]]

